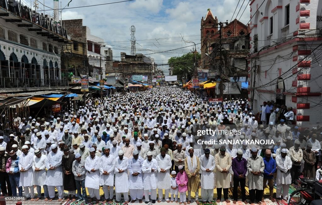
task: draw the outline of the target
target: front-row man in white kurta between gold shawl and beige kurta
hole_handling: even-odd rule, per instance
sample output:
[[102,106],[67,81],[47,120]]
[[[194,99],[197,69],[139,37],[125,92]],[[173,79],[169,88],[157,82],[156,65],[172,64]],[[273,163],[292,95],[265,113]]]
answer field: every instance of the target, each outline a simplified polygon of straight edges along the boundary
[[201,199],[203,202],[211,202],[213,200],[215,159],[210,154],[210,149],[204,150],[204,155],[200,157],[201,169]]

